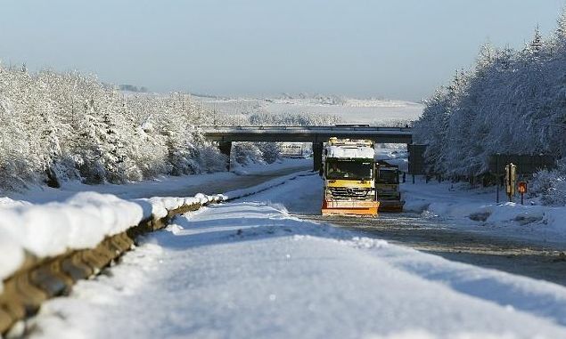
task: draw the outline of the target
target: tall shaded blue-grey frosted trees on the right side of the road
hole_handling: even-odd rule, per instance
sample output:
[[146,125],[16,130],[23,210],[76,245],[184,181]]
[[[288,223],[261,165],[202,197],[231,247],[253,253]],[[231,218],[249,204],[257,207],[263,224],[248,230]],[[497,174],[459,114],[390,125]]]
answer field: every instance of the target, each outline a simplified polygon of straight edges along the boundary
[[564,17],[556,34],[536,29],[521,51],[482,46],[475,67],[426,102],[414,141],[429,145],[431,173],[484,174],[496,153],[566,154]]

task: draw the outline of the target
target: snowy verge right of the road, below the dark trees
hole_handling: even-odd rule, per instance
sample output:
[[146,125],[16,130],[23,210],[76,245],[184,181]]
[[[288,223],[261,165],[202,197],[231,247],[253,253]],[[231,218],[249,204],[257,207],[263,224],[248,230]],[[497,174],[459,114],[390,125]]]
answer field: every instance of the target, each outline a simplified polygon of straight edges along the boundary
[[401,184],[406,212],[449,218],[455,227],[467,230],[548,243],[566,242],[566,207],[531,205],[529,199],[525,199],[525,205],[505,202],[503,190],[502,202],[496,204],[495,187],[468,190],[462,183],[425,183],[418,177],[413,184],[410,176],[406,179]]

